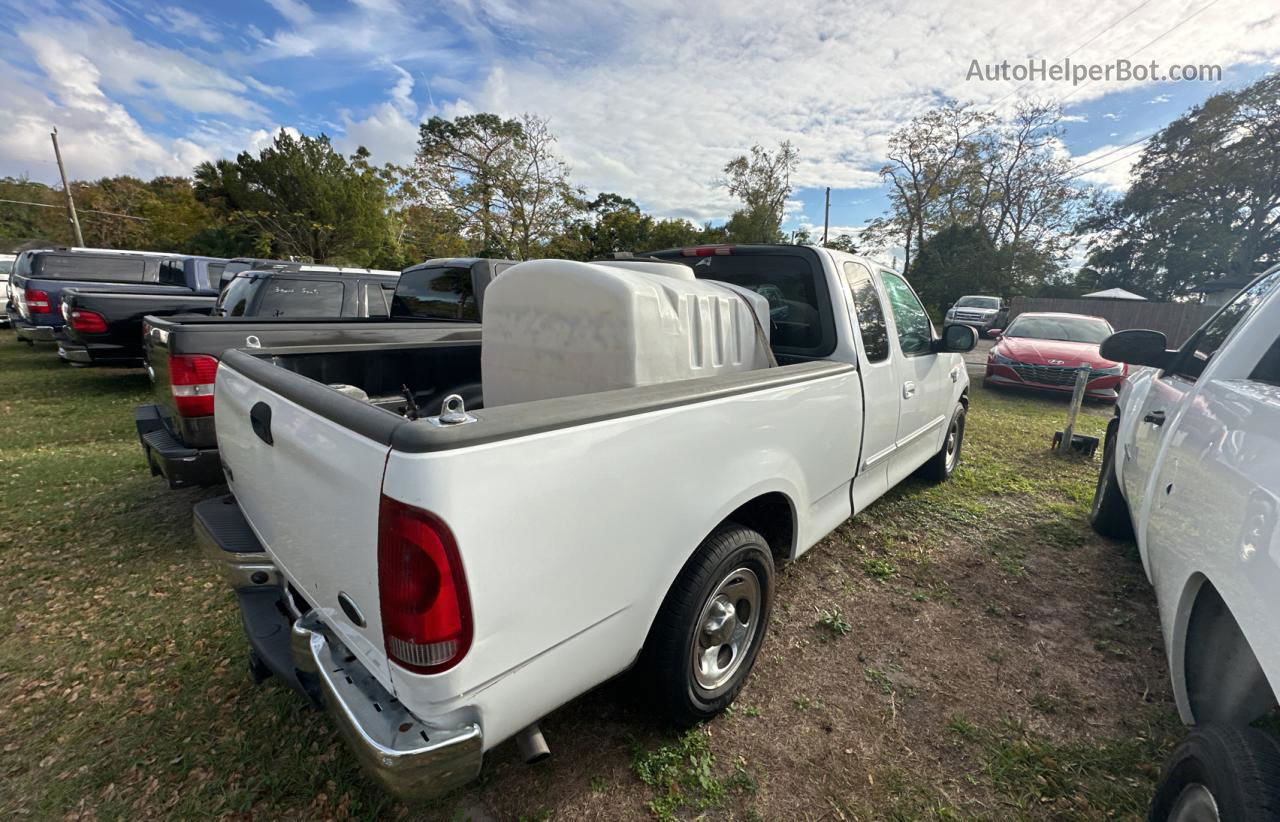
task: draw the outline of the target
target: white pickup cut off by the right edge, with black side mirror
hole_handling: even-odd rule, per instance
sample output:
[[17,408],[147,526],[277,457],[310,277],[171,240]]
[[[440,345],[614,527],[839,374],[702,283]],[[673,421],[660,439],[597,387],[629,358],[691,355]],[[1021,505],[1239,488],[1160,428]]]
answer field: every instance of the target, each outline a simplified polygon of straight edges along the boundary
[[1194,726],[1151,819],[1280,818],[1280,739],[1251,723],[1280,686],[1280,266],[1179,350],[1126,330],[1091,519],[1137,536],[1156,589],[1178,711]]

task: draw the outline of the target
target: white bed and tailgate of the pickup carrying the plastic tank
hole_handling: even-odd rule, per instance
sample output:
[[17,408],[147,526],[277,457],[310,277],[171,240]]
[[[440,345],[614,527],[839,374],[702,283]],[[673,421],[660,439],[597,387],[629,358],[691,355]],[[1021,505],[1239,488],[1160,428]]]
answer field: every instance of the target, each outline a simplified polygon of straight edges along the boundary
[[[698,540],[740,504],[768,493],[794,502],[788,556],[851,512],[863,420],[849,364],[468,405],[474,423],[442,426],[307,374],[366,391],[422,379],[447,392],[477,375],[470,346],[338,355],[227,352],[218,433],[232,490],[335,641],[419,716],[479,711],[467,716],[481,721],[486,749],[630,666]],[[376,371],[374,361],[398,365]],[[475,638],[436,676],[406,673],[384,652],[371,574],[383,499],[430,511],[462,556]]]

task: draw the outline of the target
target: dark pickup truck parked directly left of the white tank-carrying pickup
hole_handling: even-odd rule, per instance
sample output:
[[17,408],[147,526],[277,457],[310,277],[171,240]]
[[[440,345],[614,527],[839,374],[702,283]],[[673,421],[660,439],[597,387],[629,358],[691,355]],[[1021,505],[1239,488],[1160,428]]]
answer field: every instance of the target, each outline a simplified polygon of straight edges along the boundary
[[[428,342],[475,343],[480,339],[484,289],[513,265],[474,257],[428,260],[404,269],[385,315],[339,319],[236,315],[239,297],[228,288],[221,309],[228,316],[146,318],[143,347],[155,403],[134,410],[134,424],[147,465],[170,488],[223,481],[214,435],[214,379],[224,351]],[[237,275],[234,283],[246,275]],[[246,278],[246,283],[248,279]],[[260,292],[262,286],[255,286]],[[370,301],[370,286],[360,288]],[[279,294],[284,305],[285,294]],[[307,294],[306,298],[314,298]],[[257,305],[261,305],[261,297]],[[282,311],[288,311],[282,307]]]

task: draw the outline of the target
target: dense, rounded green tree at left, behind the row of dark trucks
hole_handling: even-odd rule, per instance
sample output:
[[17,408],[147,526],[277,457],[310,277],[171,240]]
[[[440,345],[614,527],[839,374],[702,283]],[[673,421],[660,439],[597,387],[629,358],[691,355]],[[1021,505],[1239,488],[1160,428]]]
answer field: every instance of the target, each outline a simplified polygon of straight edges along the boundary
[[392,237],[387,179],[367,157],[343,157],[324,134],[280,131],[257,156],[200,164],[195,191],[243,251],[367,265]]

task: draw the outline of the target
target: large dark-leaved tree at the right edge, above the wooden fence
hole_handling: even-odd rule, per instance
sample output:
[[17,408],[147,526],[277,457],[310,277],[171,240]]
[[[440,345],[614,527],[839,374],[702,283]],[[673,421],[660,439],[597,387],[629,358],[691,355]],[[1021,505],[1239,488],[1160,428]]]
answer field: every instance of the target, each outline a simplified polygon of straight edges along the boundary
[[1123,196],[1098,197],[1079,225],[1101,287],[1172,298],[1280,262],[1280,74],[1166,125],[1132,181]]

